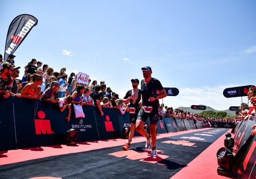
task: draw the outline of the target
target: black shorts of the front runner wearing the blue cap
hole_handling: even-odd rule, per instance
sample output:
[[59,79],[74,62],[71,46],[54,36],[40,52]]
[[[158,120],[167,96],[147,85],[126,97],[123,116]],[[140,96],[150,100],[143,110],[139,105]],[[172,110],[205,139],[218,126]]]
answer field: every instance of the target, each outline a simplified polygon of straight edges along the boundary
[[153,107],[151,113],[145,113],[143,107],[138,114],[137,119],[142,120],[144,123],[146,122],[147,118],[149,117],[150,124],[157,125],[158,122],[158,107]]

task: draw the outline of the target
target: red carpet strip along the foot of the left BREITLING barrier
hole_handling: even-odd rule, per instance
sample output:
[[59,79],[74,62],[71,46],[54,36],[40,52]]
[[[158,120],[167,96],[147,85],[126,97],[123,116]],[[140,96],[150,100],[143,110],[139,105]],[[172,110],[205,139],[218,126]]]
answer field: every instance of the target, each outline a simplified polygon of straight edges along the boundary
[[[189,131],[181,131],[175,133],[162,133],[158,134],[157,138],[171,137],[185,133],[192,133],[195,131],[204,131],[209,128],[203,129],[193,129]],[[107,148],[107,147],[115,147],[124,145],[125,139],[111,139],[111,140],[100,140],[94,142],[84,142],[78,143],[77,146],[66,146],[66,145],[54,145],[48,147],[39,147],[39,148],[25,148],[25,149],[17,149],[17,150],[9,150],[0,152],[0,158],[4,158],[4,160],[0,160],[0,165],[3,164],[12,164],[16,162],[22,162],[26,160],[32,159],[41,159],[45,157],[50,157],[54,155],[68,154],[68,153],[77,153],[77,152],[85,152],[89,150],[99,149],[99,148]],[[144,137],[135,137],[132,139],[132,143],[144,142]],[[217,152],[217,150],[216,150]]]

